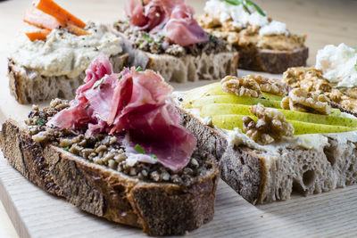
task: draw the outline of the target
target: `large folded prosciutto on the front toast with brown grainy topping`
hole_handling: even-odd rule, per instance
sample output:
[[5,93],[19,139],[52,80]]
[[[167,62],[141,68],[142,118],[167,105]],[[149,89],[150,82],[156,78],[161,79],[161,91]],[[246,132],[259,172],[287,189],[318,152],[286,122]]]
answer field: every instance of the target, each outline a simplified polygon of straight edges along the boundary
[[[104,55],[86,73],[86,84],[77,90],[71,107],[57,113],[47,127],[85,127],[86,135],[105,132],[124,137],[121,141],[131,164],[157,161],[174,172],[187,166],[196,139],[179,125],[179,113],[170,98],[173,89],[160,75],[134,68],[112,73]],[[145,154],[135,150],[137,144]]]

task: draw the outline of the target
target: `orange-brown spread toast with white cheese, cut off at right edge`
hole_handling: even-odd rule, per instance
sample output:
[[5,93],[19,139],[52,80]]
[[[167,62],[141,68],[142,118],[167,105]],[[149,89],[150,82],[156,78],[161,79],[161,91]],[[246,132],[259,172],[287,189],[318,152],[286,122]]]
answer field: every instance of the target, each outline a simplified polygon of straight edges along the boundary
[[325,94],[336,107],[357,116],[357,52],[345,44],[326,45],[314,68],[288,69],[283,81],[292,88]]

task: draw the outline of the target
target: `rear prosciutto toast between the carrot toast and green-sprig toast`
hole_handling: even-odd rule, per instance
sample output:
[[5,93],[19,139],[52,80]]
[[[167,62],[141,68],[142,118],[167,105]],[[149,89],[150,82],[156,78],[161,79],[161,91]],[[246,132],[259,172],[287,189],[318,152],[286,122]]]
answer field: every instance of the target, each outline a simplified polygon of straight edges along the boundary
[[113,30],[130,65],[176,82],[237,74],[237,52],[198,25],[186,0],[128,0],[125,12],[128,21],[115,22]]

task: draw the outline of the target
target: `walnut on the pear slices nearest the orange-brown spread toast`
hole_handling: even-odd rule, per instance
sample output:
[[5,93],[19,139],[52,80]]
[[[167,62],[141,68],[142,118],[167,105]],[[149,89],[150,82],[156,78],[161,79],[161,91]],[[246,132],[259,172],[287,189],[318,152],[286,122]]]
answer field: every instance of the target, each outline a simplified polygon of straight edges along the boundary
[[303,88],[295,88],[281,101],[281,107],[291,111],[303,111],[328,115],[331,106],[324,94],[309,93]]

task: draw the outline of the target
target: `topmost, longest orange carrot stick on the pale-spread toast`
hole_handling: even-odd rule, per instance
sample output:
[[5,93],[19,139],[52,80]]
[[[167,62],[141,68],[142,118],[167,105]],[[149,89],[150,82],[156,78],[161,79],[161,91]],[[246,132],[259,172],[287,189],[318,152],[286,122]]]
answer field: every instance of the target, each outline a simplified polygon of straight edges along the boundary
[[83,29],[86,27],[86,23],[80,21],[77,17],[72,15],[70,12],[64,10],[58,4],[55,4],[52,0],[34,0],[32,5],[36,7],[38,10],[45,12],[59,21],[65,21],[67,23],[78,26]]

